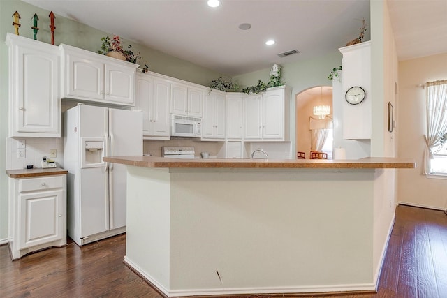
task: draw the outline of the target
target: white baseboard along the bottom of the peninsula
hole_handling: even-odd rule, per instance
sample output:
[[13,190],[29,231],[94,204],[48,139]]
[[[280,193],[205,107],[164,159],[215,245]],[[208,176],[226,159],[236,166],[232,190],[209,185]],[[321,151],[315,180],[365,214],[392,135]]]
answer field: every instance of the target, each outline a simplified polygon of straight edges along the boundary
[[216,289],[184,289],[169,290],[154,278],[147,275],[142,269],[133,263],[126,256],[124,257],[126,265],[138,272],[146,281],[156,287],[168,297],[184,297],[184,296],[210,296],[210,295],[242,295],[242,294],[282,294],[282,293],[309,293],[309,292],[369,292],[375,291],[374,283],[353,284],[353,285],[312,285],[312,286],[291,286],[291,287],[265,287],[265,288],[216,288]]

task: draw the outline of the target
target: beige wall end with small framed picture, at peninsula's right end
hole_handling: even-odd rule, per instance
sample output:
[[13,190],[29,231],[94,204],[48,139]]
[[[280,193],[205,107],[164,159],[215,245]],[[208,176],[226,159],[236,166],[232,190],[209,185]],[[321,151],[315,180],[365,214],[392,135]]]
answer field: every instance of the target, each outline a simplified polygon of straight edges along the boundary
[[[387,1],[371,1],[371,87],[372,87],[372,139],[371,156],[395,156],[395,135],[388,132],[388,102],[395,100],[397,82],[397,52],[390,24]],[[393,225],[396,203],[396,170],[376,170],[374,185],[374,265],[383,258],[384,249]],[[375,267],[379,278],[380,266]]]

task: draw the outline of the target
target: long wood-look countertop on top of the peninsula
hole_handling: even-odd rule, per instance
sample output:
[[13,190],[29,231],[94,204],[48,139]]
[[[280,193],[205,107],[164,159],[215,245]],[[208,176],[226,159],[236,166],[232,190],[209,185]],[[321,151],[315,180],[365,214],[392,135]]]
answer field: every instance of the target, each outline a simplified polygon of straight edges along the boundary
[[411,158],[361,158],[356,160],[323,159],[249,159],[209,158],[181,159],[152,156],[110,156],[103,161],[137,167],[171,168],[289,168],[289,169],[413,169]]

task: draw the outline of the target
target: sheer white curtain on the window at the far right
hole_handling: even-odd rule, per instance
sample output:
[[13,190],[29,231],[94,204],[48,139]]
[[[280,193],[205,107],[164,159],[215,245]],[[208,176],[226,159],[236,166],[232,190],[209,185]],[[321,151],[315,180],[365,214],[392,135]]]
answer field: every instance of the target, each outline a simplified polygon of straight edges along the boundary
[[441,144],[441,135],[447,133],[447,80],[425,83],[427,135],[425,137],[424,174],[430,173],[432,149]]

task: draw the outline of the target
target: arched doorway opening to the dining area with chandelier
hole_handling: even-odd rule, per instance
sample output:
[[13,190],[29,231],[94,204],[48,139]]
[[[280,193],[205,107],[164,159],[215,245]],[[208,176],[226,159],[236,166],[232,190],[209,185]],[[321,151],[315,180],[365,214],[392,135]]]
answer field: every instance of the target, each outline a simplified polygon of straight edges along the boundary
[[[330,106],[330,114],[325,117],[315,115],[314,107],[318,105]],[[332,158],[332,86],[312,87],[297,94],[295,109],[296,151],[305,152],[306,158],[309,158],[310,151],[317,145],[318,149],[321,148],[321,151],[328,153],[328,158]],[[315,129],[325,131],[317,132]]]

